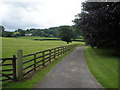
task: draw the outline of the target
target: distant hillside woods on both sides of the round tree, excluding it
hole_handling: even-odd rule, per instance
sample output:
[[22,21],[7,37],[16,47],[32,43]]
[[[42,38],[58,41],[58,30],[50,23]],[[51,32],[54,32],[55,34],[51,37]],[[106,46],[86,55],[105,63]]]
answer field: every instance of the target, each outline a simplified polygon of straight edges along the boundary
[[[15,30],[14,32],[8,32],[8,31],[4,31],[3,32],[3,36],[4,37],[21,37],[21,36],[39,36],[39,37],[59,37],[59,29],[61,28],[61,26],[59,27],[50,27],[48,29],[36,29],[36,28],[31,28],[31,29],[18,29]],[[76,32],[75,27],[73,26],[69,26],[70,29],[72,29],[72,31],[74,32],[72,34],[72,39],[77,39],[79,38],[79,35]],[[71,32],[71,31],[70,31]]]

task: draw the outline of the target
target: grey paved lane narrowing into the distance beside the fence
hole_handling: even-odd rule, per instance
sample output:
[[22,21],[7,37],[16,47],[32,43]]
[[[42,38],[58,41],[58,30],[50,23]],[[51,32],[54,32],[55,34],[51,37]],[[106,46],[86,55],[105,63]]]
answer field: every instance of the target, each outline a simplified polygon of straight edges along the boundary
[[84,48],[77,47],[34,88],[103,88],[86,65]]

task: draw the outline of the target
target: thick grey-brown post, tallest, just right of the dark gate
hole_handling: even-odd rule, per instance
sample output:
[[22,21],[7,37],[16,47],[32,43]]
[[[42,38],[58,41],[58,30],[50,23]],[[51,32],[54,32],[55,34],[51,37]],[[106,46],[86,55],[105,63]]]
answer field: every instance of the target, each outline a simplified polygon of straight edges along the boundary
[[18,58],[18,80],[22,81],[23,80],[23,52],[22,50],[17,51],[17,58]]

